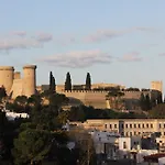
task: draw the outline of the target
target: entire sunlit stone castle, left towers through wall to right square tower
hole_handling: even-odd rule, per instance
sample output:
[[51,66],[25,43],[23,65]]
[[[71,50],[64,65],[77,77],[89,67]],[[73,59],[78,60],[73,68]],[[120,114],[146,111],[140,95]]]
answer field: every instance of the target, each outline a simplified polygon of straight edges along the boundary
[[[21,77],[20,72],[14,72],[13,66],[0,66],[0,86],[6,88],[7,95],[11,96],[12,99],[18,96],[30,97],[34,94],[42,92],[50,88],[48,85],[42,85],[36,87],[36,65],[26,65],[23,67],[23,76]],[[162,81],[153,81],[151,89],[162,90]],[[108,91],[105,90],[94,90],[102,89],[107,87],[120,87],[124,92],[124,100],[128,102],[129,107],[135,105],[140,99],[141,94],[155,95],[154,90],[146,91],[125,91],[125,87],[116,84],[92,84],[92,90],[81,90],[85,88],[85,85],[73,85],[72,91],[65,91],[64,85],[57,85],[56,91],[58,94],[64,94],[69,98],[72,105],[77,106],[84,103],[86,106],[92,106],[95,108],[105,109],[110,108],[109,102],[106,100]],[[133,107],[135,109],[135,107]]]

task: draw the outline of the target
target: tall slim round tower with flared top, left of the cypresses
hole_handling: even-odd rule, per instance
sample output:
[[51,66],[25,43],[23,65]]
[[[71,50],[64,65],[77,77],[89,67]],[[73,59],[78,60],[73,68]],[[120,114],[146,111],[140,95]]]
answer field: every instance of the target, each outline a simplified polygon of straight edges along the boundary
[[23,67],[23,95],[26,97],[30,97],[35,94],[35,69],[36,65],[26,65]]

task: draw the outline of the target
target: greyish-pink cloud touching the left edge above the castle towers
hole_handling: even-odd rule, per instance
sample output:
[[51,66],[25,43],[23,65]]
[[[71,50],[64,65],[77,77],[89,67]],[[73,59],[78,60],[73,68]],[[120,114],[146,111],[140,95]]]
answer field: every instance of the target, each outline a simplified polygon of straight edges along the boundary
[[0,40],[0,51],[24,50],[32,47],[41,47],[42,44],[32,38],[10,38]]

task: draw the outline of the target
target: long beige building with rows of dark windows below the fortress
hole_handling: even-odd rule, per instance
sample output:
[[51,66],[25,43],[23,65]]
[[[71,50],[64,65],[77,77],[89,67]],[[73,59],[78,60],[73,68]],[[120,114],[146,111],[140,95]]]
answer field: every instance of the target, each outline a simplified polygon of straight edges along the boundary
[[142,136],[154,132],[165,136],[165,119],[87,120],[82,127],[88,130],[118,132],[122,136]]

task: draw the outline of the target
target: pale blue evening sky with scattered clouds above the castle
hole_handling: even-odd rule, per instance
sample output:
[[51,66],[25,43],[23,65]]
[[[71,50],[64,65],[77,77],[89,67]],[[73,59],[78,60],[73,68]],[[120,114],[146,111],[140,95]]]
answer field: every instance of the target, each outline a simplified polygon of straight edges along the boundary
[[37,85],[165,82],[164,0],[0,0],[0,65],[37,65]]

